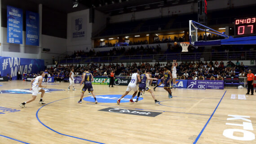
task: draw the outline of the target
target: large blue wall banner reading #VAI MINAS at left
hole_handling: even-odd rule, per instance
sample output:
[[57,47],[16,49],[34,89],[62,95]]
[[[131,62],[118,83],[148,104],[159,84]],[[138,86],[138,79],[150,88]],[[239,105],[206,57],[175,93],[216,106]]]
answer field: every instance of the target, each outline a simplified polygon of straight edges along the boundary
[[12,79],[17,79],[18,70],[27,74],[37,74],[44,70],[44,60],[20,58],[20,57],[0,57],[0,72],[2,76],[7,74],[12,76]]

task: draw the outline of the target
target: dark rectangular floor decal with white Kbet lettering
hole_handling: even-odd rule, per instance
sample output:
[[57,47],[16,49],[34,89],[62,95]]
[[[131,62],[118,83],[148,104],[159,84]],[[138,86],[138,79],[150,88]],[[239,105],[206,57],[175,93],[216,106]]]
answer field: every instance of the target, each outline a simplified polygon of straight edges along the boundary
[[100,109],[99,111],[110,112],[110,113],[124,113],[124,114],[140,115],[140,116],[147,116],[147,117],[155,117],[161,114],[159,112],[150,112],[150,111],[133,110],[133,109],[119,109],[119,108],[106,108],[106,109]]

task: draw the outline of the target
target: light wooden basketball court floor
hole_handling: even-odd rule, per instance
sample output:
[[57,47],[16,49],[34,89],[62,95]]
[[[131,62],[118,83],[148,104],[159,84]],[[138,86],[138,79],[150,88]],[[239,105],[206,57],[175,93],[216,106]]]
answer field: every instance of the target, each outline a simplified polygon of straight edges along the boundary
[[[30,88],[30,82],[25,81],[0,85],[1,92]],[[243,96],[246,89],[175,89],[169,99],[158,87],[154,94],[162,101],[159,104],[155,105],[146,92],[138,103],[117,105],[104,103],[101,98],[98,104],[85,100],[76,103],[79,84],[75,84],[77,91],[67,91],[69,83],[44,85],[65,91],[46,93],[46,105],[38,104],[38,95],[25,109],[19,104],[31,94],[0,92],[0,144],[256,144],[256,94]],[[96,96],[121,95],[126,88],[93,85]],[[99,111],[105,108],[160,114],[147,117]]]

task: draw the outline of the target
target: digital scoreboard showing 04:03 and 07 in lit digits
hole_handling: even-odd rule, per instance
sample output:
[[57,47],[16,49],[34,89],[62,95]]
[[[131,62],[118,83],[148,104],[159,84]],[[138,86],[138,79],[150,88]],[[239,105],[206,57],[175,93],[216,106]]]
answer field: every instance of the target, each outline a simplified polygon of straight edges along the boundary
[[256,17],[236,18],[235,36],[256,35]]

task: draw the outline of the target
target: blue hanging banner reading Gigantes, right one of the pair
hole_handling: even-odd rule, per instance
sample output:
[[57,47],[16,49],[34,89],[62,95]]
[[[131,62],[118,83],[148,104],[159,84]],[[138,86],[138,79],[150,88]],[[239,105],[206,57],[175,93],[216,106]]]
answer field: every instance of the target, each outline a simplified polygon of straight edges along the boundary
[[39,14],[26,11],[26,44],[39,46]]

